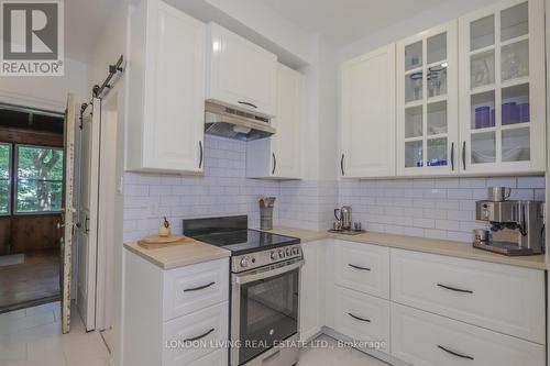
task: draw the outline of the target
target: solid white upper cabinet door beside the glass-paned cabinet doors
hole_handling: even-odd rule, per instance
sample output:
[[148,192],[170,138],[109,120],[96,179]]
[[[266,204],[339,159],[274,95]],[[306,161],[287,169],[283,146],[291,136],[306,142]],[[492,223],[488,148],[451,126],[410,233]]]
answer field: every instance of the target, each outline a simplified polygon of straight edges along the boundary
[[343,63],[340,175],[395,176],[395,46]]

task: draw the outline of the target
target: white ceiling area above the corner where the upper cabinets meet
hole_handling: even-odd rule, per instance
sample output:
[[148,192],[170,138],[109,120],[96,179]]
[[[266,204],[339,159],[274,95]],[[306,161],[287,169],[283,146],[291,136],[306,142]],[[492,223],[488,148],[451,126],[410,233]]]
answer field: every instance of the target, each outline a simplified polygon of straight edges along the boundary
[[348,45],[446,0],[257,0],[311,33]]

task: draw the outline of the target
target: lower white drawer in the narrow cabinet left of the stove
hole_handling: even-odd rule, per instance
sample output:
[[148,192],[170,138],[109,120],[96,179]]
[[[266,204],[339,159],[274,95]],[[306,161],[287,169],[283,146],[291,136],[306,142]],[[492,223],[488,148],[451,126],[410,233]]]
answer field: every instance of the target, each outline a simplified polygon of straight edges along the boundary
[[[187,365],[219,350],[228,340],[228,319],[229,302],[226,301],[164,323],[163,365]],[[186,340],[195,341],[183,346]]]

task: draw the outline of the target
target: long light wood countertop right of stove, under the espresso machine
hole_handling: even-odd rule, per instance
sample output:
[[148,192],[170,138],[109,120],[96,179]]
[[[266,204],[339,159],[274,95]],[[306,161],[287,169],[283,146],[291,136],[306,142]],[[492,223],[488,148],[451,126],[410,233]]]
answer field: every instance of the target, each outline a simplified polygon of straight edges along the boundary
[[270,232],[296,236],[302,243],[312,242],[322,239],[339,239],[348,242],[358,242],[365,244],[374,244],[381,246],[395,247],[400,249],[424,252],[431,254],[448,255],[458,258],[484,260],[491,263],[505,264],[532,269],[547,269],[544,255],[531,255],[522,257],[508,257],[502,254],[486,252],[474,248],[469,243],[444,241],[437,239],[395,235],[385,233],[366,232],[359,235],[344,235],[329,233],[324,231],[302,230],[295,228],[275,226]]

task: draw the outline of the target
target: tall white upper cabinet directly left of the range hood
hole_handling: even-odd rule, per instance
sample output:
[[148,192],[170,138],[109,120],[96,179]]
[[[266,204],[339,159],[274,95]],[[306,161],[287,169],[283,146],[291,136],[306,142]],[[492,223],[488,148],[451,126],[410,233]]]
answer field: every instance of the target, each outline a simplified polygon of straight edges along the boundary
[[131,13],[127,169],[200,173],[206,25],[160,0]]

